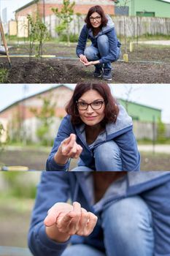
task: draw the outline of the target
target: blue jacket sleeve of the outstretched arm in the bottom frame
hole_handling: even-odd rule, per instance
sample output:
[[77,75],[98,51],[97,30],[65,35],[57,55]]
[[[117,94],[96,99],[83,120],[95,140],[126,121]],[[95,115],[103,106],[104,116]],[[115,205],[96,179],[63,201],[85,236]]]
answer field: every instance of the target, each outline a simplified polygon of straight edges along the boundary
[[42,172],[28,232],[28,247],[34,256],[60,256],[69,241],[57,243],[48,238],[43,221],[47,211],[69,198],[68,173]]

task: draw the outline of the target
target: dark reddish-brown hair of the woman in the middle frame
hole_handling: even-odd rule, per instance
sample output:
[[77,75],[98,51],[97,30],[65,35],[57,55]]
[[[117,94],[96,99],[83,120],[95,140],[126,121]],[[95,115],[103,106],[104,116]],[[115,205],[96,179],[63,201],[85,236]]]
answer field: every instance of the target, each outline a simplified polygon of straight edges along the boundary
[[117,115],[119,113],[119,108],[117,106],[116,100],[112,97],[110,88],[107,83],[77,83],[74,89],[72,98],[66,105],[66,113],[71,116],[71,121],[73,125],[82,124],[82,119],[79,116],[79,111],[77,109],[77,101],[82,97],[86,91],[96,90],[101,97],[104,98],[105,108],[104,108],[104,119],[101,121],[101,125],[116,121]]

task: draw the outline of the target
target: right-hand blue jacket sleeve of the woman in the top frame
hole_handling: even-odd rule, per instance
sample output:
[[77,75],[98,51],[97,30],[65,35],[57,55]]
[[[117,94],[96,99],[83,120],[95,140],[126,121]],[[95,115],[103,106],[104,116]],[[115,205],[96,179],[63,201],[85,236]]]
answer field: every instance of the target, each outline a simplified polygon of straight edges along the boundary
[[107,56],[102,57],[99,61],[101,64],[107,63],[108,61],[117,61],[120,57],[120,42],[117,41],[117,36],[115,33],[115,28],[107,32],[107,37],[109,38],[109,53]]

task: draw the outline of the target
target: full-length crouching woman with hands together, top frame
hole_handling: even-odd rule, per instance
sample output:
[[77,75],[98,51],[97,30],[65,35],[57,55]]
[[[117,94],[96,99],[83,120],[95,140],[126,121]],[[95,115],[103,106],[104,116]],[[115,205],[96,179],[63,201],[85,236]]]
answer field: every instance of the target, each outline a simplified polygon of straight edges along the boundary
[[[112,80],[111,62],[120,58],[121,45],[117,40],[115,25],[99,5],[89,9],[85,23],[76,48],[77,56],[85,66],[95,65],[94,77],[103,76],[104,80]],[[85,48],[88,39],[92,45]]]

